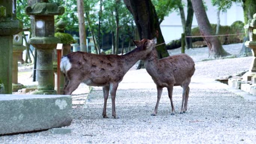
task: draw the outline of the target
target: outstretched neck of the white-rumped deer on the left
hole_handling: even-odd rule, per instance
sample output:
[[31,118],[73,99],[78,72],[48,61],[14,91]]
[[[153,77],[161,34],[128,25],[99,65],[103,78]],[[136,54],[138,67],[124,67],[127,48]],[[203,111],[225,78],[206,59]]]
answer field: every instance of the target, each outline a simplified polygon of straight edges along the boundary
[[131,52],[122,55],[122,60],[124,61],[125,70],[129,70],[140,58],[147,54],[147,50],[143,50],[142,46],[139,46],[132,50]]

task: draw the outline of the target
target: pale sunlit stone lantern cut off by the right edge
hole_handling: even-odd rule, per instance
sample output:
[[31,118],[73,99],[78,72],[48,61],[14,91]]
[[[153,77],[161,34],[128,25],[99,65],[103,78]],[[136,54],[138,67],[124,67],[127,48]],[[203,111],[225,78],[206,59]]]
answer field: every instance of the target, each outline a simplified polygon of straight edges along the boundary
[[244,28],[249,30],[249,41],[246,41],[244,45],[252,49],[253,61],[249,71],[243,75],[243,80],[250,81],[256,75],[256,13]]

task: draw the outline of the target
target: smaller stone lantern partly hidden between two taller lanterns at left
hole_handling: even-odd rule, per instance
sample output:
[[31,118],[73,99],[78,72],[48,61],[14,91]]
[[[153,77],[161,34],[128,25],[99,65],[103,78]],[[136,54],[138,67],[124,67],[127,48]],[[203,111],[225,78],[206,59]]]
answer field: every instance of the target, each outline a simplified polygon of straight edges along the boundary
[[22,88],[22,84],[18,83],[18,58],[26,49],[23,44],[22,31],[13,36],[12,49],[12,91],[16,92]]

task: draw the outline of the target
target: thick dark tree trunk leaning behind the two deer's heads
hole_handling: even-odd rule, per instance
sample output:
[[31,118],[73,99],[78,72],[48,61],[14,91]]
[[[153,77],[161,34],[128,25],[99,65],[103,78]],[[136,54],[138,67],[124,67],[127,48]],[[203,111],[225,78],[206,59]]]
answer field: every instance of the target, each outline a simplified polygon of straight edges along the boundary
[[[140,39],[157,38],[157,44],[164,43],[155,7],[150,0],[124,0],[134,17]],[[158,58],[169,56],[165,44],[157,46]]]

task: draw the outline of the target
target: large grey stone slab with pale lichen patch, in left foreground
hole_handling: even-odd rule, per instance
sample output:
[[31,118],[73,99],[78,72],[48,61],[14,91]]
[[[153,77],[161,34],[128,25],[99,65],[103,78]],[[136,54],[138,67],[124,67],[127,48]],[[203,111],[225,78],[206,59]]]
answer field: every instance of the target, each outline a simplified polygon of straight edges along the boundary
[[0,135],[69,126],[70,95],[0,95]]

